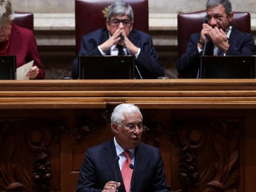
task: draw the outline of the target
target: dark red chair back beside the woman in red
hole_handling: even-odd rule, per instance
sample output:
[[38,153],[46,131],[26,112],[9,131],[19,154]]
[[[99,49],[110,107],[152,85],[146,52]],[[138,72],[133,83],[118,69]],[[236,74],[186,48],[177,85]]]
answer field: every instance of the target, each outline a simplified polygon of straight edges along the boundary
[[20,27],[25,27],[34,30],[34,15],[32,12],[14,12],[13,23]]

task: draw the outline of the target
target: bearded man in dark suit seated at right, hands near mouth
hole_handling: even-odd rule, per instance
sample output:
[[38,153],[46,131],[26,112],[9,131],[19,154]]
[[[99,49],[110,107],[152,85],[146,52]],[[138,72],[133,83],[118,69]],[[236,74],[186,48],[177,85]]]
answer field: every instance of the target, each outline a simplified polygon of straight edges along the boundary
[[204,44],[205,55],[252,56],[254,37],[232,27],[233,12],[229,0],[208,0],[207,22],[200,33],[193,34],[186,52],[177,60],[177,70],[182,77],[195,78],[200,66]]

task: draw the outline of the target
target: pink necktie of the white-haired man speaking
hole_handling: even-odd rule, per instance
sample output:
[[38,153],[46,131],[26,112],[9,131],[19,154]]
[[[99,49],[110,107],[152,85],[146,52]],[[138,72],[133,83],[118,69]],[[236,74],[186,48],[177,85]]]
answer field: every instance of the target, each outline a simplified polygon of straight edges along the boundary
[[126,188],[126,192],[130,190],[130,180],[132,179],[132,169],[130,169],[129,165],[131,164],[131,160],[129,157],[129,151],[124,151],[124,156],[126,156],[126,160],[124,164],[122,164],[122,180],[124,181],[124,187]]

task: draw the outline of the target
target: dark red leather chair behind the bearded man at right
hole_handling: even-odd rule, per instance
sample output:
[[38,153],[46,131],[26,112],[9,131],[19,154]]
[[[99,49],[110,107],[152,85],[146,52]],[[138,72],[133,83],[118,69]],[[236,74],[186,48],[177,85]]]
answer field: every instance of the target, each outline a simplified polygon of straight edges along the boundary
[[[205,15],[205,10],[185,14],[180,13],[177,15],[177,40],[179,57],[184,54],[190,35],[192,35],[192,33],[201,31]],[[232,25],[238,30],[250,33],[249,12],[234,12]]]

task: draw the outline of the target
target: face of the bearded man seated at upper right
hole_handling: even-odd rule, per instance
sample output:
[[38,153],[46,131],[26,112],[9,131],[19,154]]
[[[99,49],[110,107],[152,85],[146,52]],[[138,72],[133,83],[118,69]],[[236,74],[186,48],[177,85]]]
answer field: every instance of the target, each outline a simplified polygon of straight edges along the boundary
[[207,9],[207,18],[208,24],[211,25],[211,27],[222,28],[223,31],[226,31],[233,19],[233,12],[227,15],[223,5],[210,7]]

